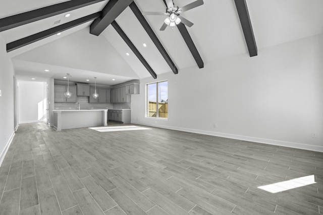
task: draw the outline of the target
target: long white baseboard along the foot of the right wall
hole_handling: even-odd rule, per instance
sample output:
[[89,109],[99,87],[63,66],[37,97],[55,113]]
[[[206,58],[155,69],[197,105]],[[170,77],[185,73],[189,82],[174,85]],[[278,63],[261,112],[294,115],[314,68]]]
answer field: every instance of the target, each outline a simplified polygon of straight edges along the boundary
[[156,126],[153,124],[142,123],[142,122],[138,122],[138,121],[136,121],[136,122],[132,121],[131,123],[139,124],[139,125],[146,125],[146,126],[151,126],[151,127],[166,128],[166,129],[171,129],[171,130],[180,130],[180,131],[186,131],[186,132],[192,132],[192,133],[200,133],[200,134],[206,134],[206,135],[211,135],[211,136],[220,136],[220,137],[226,137],[226,138],[231,138],[231,139],[239,139],[239,140],[245,140],[245,141],[251,141],[251,142],[259,142],[260,144],[269,144],[269,145],[275,145],[275,146],[281,146],[281,147],[309,150],[309,151],[314,151],[314,152],[323,152],[323,146],[300,144],[297,142],[288,142],[288,141],[281,141],[281,140],[275,140],[275,139],[265,139],[265,138],[259,138],[259,137],[242,136],[242,135],[236,135],[236,134],[230,134],[230,133],[220,133],[220,132],[212,132],[212,131],[174,127],[174,126],[164,126],[164,125]]

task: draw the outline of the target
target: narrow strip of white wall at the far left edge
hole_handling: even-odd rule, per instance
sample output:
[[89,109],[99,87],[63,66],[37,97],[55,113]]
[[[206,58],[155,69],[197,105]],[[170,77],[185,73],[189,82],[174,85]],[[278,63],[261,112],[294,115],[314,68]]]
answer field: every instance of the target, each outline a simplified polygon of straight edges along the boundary
[[14,76],[15,71],[7,54],[6,42],[0,33],[0,165],[8,150],[14,128]]

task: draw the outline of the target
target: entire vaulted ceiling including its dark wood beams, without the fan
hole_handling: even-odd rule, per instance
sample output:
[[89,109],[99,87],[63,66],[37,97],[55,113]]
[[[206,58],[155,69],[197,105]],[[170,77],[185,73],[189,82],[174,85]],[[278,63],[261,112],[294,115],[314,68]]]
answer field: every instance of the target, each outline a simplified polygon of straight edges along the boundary
[[18,80],[62,80],[70,73],[71,81],[97,77],[98,84],[116,85],[186,67],[199,71],[233,55],[256,57],[262,48],[323,33],[321,0],[204,0],[182,14],[192,27],[165,31],[159,28],[166,16],[140,13],[165,9],[163,0],[5,1],[0,34]]

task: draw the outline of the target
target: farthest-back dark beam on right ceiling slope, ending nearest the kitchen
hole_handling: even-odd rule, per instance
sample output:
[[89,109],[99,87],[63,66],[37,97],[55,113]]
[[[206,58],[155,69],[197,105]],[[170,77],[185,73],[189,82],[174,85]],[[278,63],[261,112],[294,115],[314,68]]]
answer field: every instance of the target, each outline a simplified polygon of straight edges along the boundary
[[118,32],[118,34],[122,37],[122,39],[127,43],[129,48],[132,50],[133,53],[138,57],[138,59],[141,61],[141,63],[146,67],[146,69],[149,71],[152,78],[156,79],[157,75],[153,71],[153,69],[150,67],[150,65],[147,63],[145,58],[140,54],[138,49],[135,47],[135,45],[131,42],[129,37],[125,34],[125,32],[120,28],[118,23],[116,21],[113,21],[111,25],[115,28],[115,30]]

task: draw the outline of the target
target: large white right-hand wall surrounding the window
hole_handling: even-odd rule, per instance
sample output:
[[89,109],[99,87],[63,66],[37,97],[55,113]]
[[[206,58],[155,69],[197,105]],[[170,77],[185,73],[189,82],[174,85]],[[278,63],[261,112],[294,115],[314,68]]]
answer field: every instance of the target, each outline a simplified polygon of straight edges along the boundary
[[[320,34],[142,79],[132,123],[323,152],[322,59]],[[168,120],[145,117],[146,84],[161,80]]]

